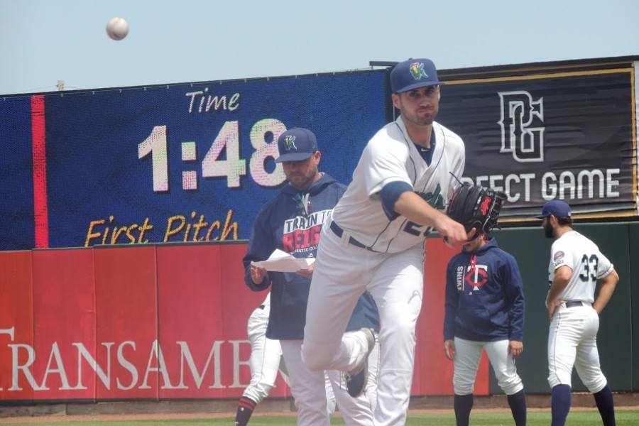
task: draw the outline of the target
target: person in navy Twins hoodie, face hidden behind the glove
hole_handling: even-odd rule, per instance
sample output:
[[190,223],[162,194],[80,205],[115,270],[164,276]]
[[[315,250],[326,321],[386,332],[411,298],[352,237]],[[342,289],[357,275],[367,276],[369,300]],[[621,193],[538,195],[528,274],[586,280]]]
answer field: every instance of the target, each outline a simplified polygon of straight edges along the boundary
[[524,296],[517,261],[479,234],[446,270],[444,354],[454,361],[457,426],[467,426],[479,360],[486,350],[515,425],[526,424],[523,383],[515,358],[523,351]]

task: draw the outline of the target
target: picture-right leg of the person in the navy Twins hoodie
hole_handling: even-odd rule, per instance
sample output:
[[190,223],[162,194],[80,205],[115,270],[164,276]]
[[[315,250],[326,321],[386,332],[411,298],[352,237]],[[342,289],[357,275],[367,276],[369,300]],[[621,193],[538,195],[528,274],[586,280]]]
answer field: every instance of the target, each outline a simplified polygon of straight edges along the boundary
[[491,361],[497,383],[503,393],[508,397],[508,406],[513,413],[515,425],[526,424],[526,395],[523,391],[523,383],[517,373],[515,359],[508,354],[508,340],[498,340],[486,343],[486,354]]

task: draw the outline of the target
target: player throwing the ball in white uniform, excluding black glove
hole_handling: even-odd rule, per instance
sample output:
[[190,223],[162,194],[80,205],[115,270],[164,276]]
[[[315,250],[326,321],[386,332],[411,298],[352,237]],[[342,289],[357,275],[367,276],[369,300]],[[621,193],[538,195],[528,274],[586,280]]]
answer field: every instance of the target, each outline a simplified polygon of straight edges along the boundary
[[[383,127],[361,154],[344,196],[322,227],[307,305],[302,358],[315,370],[348,372],[365,383],[370,334],[344,334],[364,290],[378,306],[381,358],[374,425],[403,425],[422,307],[425,237],[439,231],[454,248],[474,235],[444,213],[464,172],[461,138],[435,122],[439,80],[427,59],[391,71],[401,116]],[[350,386],[349,393],[364,391]]]

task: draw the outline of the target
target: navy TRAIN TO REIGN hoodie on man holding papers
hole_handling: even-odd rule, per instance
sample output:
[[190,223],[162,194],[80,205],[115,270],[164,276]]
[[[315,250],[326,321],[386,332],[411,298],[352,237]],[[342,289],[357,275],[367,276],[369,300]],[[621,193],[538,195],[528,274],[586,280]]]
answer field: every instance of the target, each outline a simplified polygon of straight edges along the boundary
[[[297,273],[269,272],[262,283],[256,285],[251,279],[251,261],[266,260],[275,249],[296,258],[315,257],[324,220],[345,190],[346,185],[324,173],[305,191],[285,185],[258,212],[242,262],[244,282],[251,290],[266,290],[272,285],[271,314],[266,329],[269,339],[304,338],[310,280]],[[362,327],[379,331],[377,306],[368,292],[359,298],[346,331]]]

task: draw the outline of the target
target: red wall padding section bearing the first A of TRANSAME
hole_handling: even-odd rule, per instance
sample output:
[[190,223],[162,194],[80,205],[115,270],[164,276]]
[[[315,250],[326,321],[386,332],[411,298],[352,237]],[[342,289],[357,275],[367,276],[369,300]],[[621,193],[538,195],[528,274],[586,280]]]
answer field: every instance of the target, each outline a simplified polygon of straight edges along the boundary
[[95,376],[78,373],[95,353],[93,251],[33,251],[33,377],[37,400],[93,399]]

